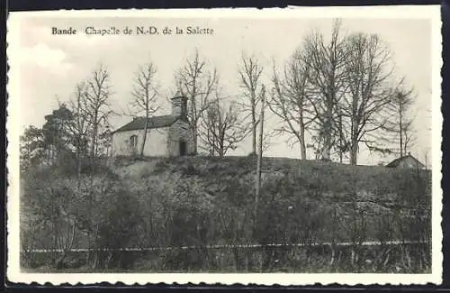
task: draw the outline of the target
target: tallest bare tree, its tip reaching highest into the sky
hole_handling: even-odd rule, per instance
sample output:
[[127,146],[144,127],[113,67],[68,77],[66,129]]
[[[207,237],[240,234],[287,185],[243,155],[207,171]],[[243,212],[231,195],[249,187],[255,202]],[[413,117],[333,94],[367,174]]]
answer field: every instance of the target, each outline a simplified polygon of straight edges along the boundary
[[322,159],[330,160],[331,149],[338,136],[337,107],[345,92],[344,38],[340,36],[341,22],[335,21],[331,38],[313,33],[305,38],[303,61],[308,67],[308,83],[311,87],[311,105],[316,114],[315,131],[321,145]]

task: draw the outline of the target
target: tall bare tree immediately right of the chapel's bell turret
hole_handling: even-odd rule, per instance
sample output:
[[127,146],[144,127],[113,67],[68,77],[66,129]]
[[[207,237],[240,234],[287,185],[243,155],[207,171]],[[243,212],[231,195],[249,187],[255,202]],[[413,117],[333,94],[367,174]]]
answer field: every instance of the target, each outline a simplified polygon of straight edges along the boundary
[[177,91],[188,98],[188,119],[193,131],[193,149],[197,152],[198,128],[202,114],[208,109],[211,93],[217,88],[219,76],[216,69],[207,69],[198,50],[175,73]]

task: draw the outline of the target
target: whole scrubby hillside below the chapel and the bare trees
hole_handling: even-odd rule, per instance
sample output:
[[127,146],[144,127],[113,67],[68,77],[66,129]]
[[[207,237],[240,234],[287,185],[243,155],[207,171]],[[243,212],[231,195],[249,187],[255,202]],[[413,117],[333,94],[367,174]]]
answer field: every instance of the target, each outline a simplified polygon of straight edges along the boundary
[[[347,263],[345,270],[353,271],[365,258],[392,261],[392,255],[383,251],[382,257],[368,250],[365,242],[429,243],[431,197],[426,171],[264,158],[262,193],[255,209],[255,166],[255,157],[117,158],[81,181],[73,173],[40,170],[24,179],[28,199],[23,206],[31,211],[29,215],[48,208],[48,203],[63,212],[57,213],[57,219],[46,218],[53,225],[44,224],[37,236],[40,242],[33,247],[55,248],[58,241],[53,241],[51,231],[55,226],[66,231],[60,223],[74,223],[77,248],[173,248],[152,252],[157,260],[139,256],[145,262],[143,270],[266,271],[272,270],[275,259],[284,259],[288,270],[296,271],[293,268],[306,264],[320,268],[323,261],[333,264],[335,259],[345,259],[349,261],[342,262]],[[54,215],[51,211],[35,213],[36,220]],[[274,243],[301,243],[311,249],[263,246],[220,252],[208,248]],[[349,248],[339,252],[331,245],[318,251],[322,243],[348,243]],[[193,249],[175,249],[185,246]],[[414,249],[420,250],[420,263],[427,263],[421,257],[428,255],[429,245]],[[95,254],[95,268],[123,268],[125,259],[133,260],[108,253]],[[395,265],[392,262],[392,268]]]

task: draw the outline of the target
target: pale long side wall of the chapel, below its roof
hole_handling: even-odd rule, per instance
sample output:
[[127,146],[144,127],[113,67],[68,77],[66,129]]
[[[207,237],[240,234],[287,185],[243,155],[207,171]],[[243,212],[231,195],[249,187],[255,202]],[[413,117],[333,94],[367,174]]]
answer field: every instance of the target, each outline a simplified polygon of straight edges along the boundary
[[[144,156],[167,156],[167,133],[169,128],[148,129],[144,147]],[[131,135],[138,135],[136,150],[130,148]],[[112,135],[112,156],[129,156],[139,154],[143,131],[133,130]]]

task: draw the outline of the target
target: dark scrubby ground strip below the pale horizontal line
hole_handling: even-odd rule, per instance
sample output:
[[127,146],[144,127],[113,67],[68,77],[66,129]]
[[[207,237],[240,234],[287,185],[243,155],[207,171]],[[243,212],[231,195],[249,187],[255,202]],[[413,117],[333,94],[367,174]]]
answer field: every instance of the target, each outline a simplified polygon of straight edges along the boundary
[[[40,252],[42,262],[51,252]],[[85,252],[70,252],[68,265],[56,270],[49,265],[27,268],[28,272],[387,272],[427,273],[430,252],[425,243],[381,245],[317,245],[309,247],[262,246],[197,248],[150,251],[102,252],[123,262],[121,268],[93,270],[85,263]]]

